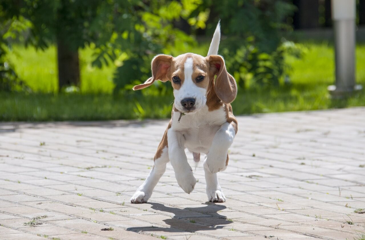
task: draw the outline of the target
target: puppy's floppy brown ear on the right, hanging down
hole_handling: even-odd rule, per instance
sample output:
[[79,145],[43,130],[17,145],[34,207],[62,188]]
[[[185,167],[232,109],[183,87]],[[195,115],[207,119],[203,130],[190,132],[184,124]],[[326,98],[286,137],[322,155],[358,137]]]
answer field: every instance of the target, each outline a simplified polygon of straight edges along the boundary
[[231,103],[237,96],[237,84],[233,76],[227,72],[224,59],[219,55],[207,56],[210,71],[217,75],[214,91],[224,103]]

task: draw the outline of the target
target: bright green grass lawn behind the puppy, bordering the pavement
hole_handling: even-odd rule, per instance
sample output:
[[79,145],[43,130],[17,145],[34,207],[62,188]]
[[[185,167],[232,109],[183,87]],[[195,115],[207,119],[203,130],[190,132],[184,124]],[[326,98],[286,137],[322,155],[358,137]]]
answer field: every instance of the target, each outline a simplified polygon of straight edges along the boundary
[[[327,86],[334,83],[334,52],[330,43],[304,43],[303,58],[288,57],[291,84],[239,90],[233,102],[235,115],[277,111],[365,106],[365,91],[350,98],[331,99]],[[201,53],[201,49],[197,53]],[[65,121],[134,118],[168,118],[173,96],[143,97],[132,92],[111,94],[113,67],[91,67],[92,51],[80,52],[81,93],[57,94],[55,48],[45,52],[16,47],[11,62],[35,93],[0,93],[0,121]],[[357,83],[365,87],[365,45],[356,48]],[[229,71],[229,70],[228,70]],[[166,83],[169,84],[169,83]]]

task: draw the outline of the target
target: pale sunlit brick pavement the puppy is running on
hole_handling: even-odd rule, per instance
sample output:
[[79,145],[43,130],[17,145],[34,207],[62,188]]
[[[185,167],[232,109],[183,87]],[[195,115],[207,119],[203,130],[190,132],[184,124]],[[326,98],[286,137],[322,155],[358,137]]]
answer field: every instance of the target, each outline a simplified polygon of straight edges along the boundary
[[365,107],[238,121],[215,204],[201,163],[191,194],[168,164],[148,203],[129,202],[167,120],[0,123],[0,239],[365,236]]

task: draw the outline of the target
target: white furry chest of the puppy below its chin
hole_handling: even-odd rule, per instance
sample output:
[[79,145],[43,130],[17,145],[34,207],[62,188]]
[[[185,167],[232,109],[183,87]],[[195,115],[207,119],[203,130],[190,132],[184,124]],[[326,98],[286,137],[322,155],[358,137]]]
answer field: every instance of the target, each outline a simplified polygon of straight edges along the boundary
[[207,153],[215,133],[227,121],[223,106],[214,111],[208,107],[195,114],[183,115],[178,122],[180,114],[173,114],[172,127],[184,135],[185,147],[193,152]]

